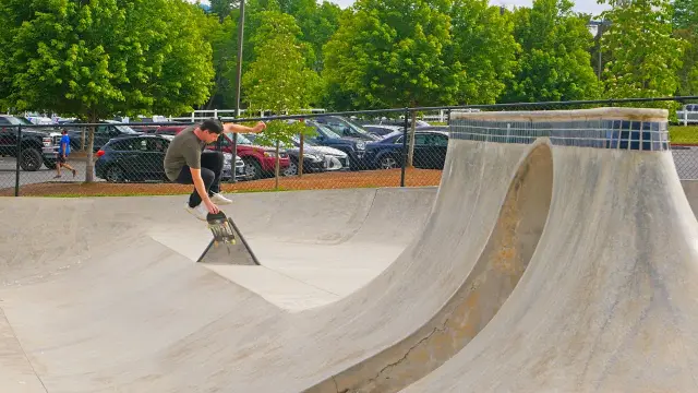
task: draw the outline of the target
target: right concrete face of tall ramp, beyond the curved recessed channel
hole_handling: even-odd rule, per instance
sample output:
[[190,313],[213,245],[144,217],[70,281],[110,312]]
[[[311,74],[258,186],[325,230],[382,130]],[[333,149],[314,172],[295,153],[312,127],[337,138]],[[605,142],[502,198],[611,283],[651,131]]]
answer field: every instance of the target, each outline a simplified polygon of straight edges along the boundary
[[605,128],[615,146],[553,148],[549,223],[519,285],[465,349],[404,392],[698,390],[698,228],[665,116],[607,110],[627,120]]

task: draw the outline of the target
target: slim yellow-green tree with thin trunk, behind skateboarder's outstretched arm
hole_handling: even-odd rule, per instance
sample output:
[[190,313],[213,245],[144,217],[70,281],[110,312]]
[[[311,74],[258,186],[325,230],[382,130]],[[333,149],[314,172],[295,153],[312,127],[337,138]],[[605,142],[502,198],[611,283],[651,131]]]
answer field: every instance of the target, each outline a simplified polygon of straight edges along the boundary
[[[298,34],[300,28],[291,15],[278,11],[260,14],[265,24],[252,37],[256,59],[242,78],[250,110],[270,110],[275,115],[298,112],[316,97],[320,76],[303,57]],[[290,145],[292,136],[308,133],[302,123],[274,120],[258,134],[256,143],[276,146],[276,179],[279,176],[279,145]]]

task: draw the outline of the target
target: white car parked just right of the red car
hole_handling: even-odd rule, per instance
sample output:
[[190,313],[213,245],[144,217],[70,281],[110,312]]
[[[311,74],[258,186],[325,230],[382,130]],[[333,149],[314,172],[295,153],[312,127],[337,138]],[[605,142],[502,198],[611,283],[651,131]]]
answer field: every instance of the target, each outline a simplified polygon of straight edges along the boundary
[[[301,140],[293,136],[293,146],[286,146],[285,150],[290,157],[290,164],[284,171],[286,176],[298,175]],[[326,170],[347,170],[350,168],[349,155],[338,148],[321,146],[303,139],[303,174],[318,172]]]

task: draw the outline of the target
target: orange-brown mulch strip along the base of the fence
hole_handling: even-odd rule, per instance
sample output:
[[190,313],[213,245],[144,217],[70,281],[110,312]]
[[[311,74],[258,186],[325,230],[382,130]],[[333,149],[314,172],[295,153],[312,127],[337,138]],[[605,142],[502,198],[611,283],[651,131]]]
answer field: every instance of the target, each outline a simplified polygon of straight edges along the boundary
[[[405,174],[406,187],[438,186],[441,170],[407,169]],[[225,193],[260,192],[260,191],[290,191],[290,190],[323,190],[346,188],[377,188],[399,187],[400,169],[369,170],[353,172],[323,172],[306,174],[302,177],[279,178],[278,189],[276,180],[262,179],[224,183]],[[120,195],[170,195],[192,192],[193,186],[173,183],[108,183],[108,182],[43,182],[26,184],[20,188],[21,196],[120,196]],[[1,196],[14,195],[14,188],[0,190]]]

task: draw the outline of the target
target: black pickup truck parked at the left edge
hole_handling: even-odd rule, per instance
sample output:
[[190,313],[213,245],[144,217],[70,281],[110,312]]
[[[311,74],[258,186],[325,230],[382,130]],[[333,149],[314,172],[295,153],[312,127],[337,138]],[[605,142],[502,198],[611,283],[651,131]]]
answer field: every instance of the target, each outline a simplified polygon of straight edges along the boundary
[[[10,115],[0,115],[0,156],[17,157],[17,127],[31,122],[23,118]],[[45,153],[44,147],[51,143],[50,127],[22,129],[22,154],[19,158],[23,170],[35,171],[46,165],[47,168],[56,168],[55,154]]]

